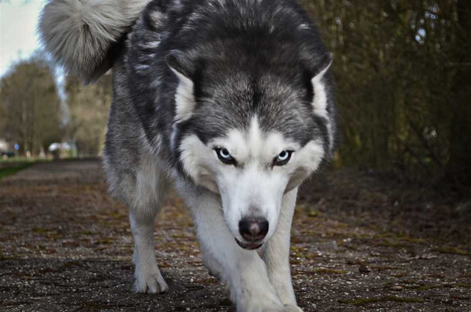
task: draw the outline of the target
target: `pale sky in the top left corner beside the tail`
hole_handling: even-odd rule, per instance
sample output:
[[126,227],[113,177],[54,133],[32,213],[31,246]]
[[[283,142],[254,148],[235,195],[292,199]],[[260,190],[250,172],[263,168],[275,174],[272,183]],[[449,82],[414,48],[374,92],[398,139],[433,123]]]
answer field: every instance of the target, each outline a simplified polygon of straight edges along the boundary
[[40,47],[37,25],[46,0],[0,0],[0,77]]

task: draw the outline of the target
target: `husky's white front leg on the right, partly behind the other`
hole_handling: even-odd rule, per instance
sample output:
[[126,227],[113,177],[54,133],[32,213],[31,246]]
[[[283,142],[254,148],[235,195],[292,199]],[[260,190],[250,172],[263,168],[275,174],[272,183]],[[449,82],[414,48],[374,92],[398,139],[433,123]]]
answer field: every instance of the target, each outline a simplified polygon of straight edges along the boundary
[[278,227],[263,249],[268,276],[281,301],[290,312],[302,312],[296,304],[290,271],[290,233],[297,188],[283,196]]

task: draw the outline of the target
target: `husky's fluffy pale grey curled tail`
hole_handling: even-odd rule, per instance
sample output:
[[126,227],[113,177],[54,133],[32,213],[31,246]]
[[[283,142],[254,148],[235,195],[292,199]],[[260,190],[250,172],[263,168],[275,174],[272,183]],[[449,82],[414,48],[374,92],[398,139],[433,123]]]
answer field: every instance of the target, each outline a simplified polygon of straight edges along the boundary
[[39,34],[46,51],[86,83],[113,65],[113,50],[150,0],[50,0]]

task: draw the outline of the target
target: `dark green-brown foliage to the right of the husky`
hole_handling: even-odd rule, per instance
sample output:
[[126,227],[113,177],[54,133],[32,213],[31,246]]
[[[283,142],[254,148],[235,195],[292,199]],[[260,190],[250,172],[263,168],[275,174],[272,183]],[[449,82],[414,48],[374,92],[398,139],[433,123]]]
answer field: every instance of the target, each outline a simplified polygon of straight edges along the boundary
[[342,164],[471,183],[471,2],[302,2],[335,55]]

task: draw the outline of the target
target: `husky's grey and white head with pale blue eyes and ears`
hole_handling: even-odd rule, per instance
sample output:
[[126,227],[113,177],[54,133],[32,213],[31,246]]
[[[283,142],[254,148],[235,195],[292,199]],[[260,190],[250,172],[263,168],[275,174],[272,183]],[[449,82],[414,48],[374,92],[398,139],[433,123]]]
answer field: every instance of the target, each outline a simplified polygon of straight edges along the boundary
[[171,146],[184,174],[220,194],[237,243],[256,249],[275,232],[283,195],[332,144],[322,80],[331,58],[306,84],[305,75],[254,75],[227,64],[206,68],[197,81],[174,56],[167,60],[178,78]]

